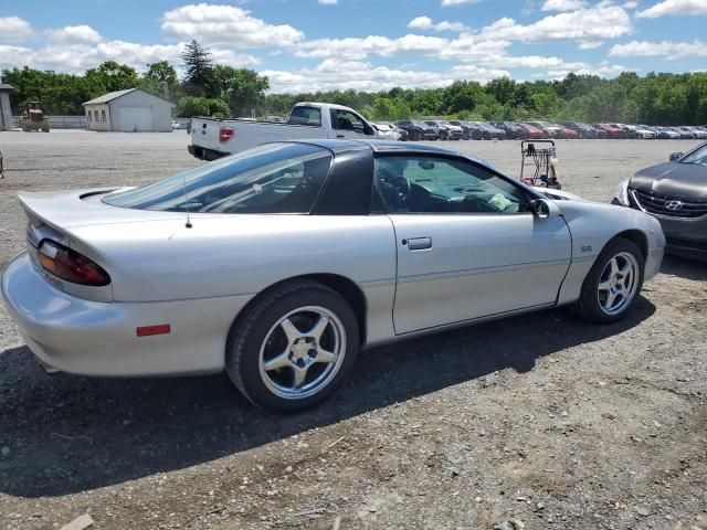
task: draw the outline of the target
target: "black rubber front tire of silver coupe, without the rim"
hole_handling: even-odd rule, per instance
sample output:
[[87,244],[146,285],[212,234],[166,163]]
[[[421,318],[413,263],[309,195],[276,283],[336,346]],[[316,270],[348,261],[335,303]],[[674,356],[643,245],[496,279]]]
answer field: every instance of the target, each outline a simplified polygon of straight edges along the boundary
[[[612,258],[621,254],[630,254],[635,259],[637,265],[637,278],[636,288],[633,293],[630,301],[621,308],[619,312],[608,314],[601,306],[599,299],[599,284],[601,283],[602,274],[606,266],[609,266]],[[611,324],[621,320],[633,307],[636,297],[641,293],[643,287],[643,274],[645,269],[645,258],[639,246],[624,237],[614,237],[606,246],[601,251],[597,261],[592,265],[592,268],[587,274],[582,289],[580,292],[579,300],[572,306],[574,314],[583,320],[594,324]]]

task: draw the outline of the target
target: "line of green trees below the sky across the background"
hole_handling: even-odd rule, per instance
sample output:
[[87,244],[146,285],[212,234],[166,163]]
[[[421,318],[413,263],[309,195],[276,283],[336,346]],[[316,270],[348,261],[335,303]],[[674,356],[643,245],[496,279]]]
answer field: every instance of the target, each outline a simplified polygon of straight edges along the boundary
[[177,103],[175,116],[286,116],[302,100],[336,103],[370,119],[447,117],[478,120],[547,119],[646,125],[707,124],[707,73],[624,72],[615,78],[570,73],[561,81],[516,82],[502,77],[486,85],[457,81],[444,88],[392,88],[377,93],[331,91],[266,94],[267,77],[249,68],[214,64],[196,41],[184,46],[183,75],[167,61],[144,73],[107,61],[83,75],[29,67],[3,70],[13,85],[14,112],[27,100],[41,100],[52,115],[83,115],[82,103],[107,92],[141,87]]

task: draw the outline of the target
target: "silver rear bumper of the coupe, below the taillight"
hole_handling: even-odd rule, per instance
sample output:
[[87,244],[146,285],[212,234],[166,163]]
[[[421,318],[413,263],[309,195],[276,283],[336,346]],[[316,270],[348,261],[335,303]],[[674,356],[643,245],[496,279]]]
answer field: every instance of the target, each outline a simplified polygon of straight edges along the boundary
[[[212,373],[223,370],[228,332],[251,295],[159,303],[103,303],[49,284],[27,253],[6,268],[4,305],[45,367],[102,377]],[[169,324],[168,335],[137,337]]]

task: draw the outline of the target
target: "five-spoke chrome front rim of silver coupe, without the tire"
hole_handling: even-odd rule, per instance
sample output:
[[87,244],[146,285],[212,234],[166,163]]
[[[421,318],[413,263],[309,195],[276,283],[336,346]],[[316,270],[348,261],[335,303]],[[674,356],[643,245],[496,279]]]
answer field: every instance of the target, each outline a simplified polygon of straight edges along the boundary
[[639,262],[621,252],[609,259],[599,279],[599,306],[606,315],[618,315],[631,304],[639,288]]

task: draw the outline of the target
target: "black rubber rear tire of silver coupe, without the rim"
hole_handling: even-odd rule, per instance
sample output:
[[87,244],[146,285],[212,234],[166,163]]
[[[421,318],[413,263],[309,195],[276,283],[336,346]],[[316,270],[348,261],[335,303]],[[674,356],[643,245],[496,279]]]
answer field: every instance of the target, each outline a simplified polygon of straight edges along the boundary
[[[260,356],[265,339],[277,322],[291,311],[307,306],[327,309],[339,319],[345,337],[342,361],[331,379],[316,393],[298,399],[283,398],[271,390],[261,375]],[[309,409],[329,396],[350,372],[359,349],[358,320],[349,304],[335,290],[312,280],[297,280],[261,295],[240,316],[229,332],[225,369],[239,391],[253,404],[274,412],[287,413]],[[287,349],[285,349],[287,351]],[[294,351],[294,350],[292,350]],[[313,364],[320,365],[320,364]],[[286,377],[283,368],[276,374]],[[270,372],[267,372],[270,373]],[[292,371],[294,378],[294,370]]]

